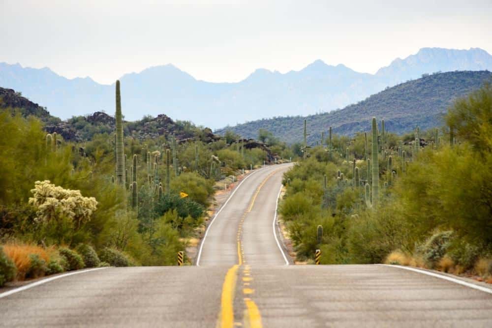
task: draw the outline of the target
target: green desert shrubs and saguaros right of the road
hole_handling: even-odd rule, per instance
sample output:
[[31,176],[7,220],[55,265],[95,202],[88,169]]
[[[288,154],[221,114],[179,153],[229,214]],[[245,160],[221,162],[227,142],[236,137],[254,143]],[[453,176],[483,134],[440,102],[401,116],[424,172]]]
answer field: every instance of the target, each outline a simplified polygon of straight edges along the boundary
[[[297,260],[389,263],[492,275],[492,87],[456,100],[445,126],[303,145],[280,214]],[[321,226],[321,229],[320,227]]]

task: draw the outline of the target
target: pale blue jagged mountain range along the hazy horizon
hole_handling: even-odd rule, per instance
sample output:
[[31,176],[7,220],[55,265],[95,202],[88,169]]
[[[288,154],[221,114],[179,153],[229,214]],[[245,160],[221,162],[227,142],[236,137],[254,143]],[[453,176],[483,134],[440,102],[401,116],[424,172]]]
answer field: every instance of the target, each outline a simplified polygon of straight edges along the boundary
[[[330,112],[424,73],[491,69],[492,56],[479,48],[422,48],[375,74],[316,60],[300,71],[257,69],[237,83],[211,83],[167,64],[125,74],[120,81],[127,120],[166,114],[219,128],[260,118]],[[112,115],[115,106],[114,85],[89,77],[66,79],[46,67],[0,63],[0,87],[22,92],[62,119],[95,111]]]

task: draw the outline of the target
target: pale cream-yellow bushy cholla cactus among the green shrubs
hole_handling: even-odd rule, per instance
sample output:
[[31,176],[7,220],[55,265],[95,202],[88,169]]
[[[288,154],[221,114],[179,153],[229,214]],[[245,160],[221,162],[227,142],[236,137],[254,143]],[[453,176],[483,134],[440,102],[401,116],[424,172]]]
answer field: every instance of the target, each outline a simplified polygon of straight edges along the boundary
[[67,217],[78,227],[90,221],[92,213],[97,209],[94,197],[83,197],[80,190],[63,189],[49,180],[36,181],[31,193],[29,204],[36,209],[36,222],[49,222]]

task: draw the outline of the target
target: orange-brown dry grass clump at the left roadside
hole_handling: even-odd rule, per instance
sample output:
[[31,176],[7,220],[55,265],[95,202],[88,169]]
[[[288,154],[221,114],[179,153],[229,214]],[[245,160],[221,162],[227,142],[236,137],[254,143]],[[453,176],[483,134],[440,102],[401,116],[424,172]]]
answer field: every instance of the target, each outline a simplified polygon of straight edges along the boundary
[[11,259],[17,268],[17,279],[22,280],[31,267],[29,255],[37,254],[41,259],[49,262],[48,252],[39,246],[33,244],[7,243],[3,246],[5,255]]

